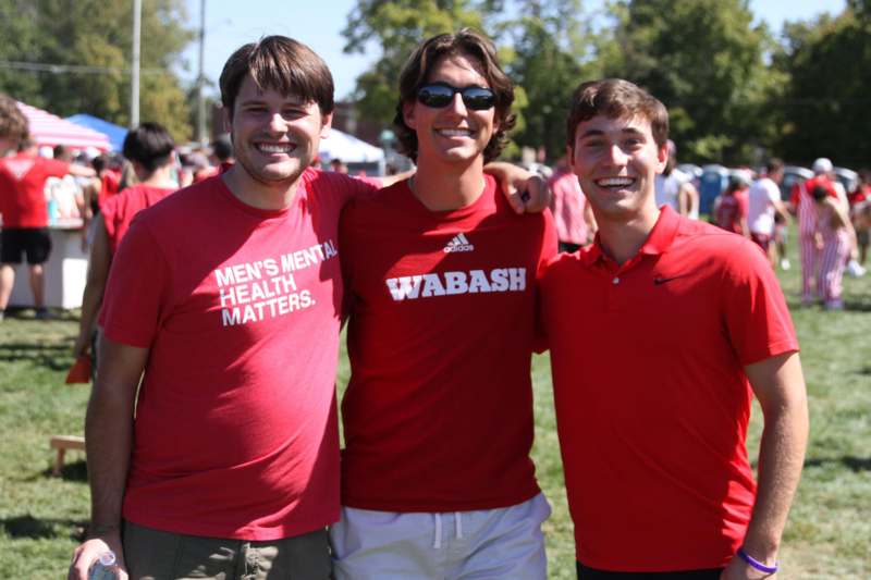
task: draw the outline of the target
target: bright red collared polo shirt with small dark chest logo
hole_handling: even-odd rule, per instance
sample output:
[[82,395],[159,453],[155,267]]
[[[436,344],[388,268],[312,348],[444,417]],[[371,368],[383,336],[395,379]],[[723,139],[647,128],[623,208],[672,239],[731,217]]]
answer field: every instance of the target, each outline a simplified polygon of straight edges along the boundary
[[765,256],[663,208],[623,267],[563,254],[541,293],[578,560],[725,566],[756,494],[744,367],[798,350]]

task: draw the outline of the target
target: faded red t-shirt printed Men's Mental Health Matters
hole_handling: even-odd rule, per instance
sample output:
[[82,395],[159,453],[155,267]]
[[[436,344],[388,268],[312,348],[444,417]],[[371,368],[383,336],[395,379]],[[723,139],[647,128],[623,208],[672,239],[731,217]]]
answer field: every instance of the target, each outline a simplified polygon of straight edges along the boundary
[[214,177],[136,215],[100,317],[150,349],[125,519],[249,541],[338,519],[339,215],[369,190],[307,170],[268,211]]

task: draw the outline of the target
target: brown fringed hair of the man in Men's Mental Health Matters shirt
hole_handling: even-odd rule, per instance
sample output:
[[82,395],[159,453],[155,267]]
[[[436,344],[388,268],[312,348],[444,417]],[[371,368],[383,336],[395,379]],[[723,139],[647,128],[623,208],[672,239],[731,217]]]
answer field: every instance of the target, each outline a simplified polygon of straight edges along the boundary
[[267,36],[243,46],[221,71],[221,102],[233,114],[242,83],[250,75],[257,88],[274,88],[305,102],[317,102],[321,114],[333,112],[333,75],[323,59],[286,36]]

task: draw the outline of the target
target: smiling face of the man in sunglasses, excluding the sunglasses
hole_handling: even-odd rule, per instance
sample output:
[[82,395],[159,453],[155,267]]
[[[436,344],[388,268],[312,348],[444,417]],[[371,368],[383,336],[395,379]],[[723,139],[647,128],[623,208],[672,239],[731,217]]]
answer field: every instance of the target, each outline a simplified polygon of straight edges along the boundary
[[[427,76],[427,84],[436,83],[457,88],[490,88],[481,63],[465,54],[440,58]],[[405,102],[403,113],[405,124],[417,134],[419,164],[480,162],[483,165],[483,151],[499,126],[495,108],[468,109],[459,92],[443,108],[427,107],[417,100]]]

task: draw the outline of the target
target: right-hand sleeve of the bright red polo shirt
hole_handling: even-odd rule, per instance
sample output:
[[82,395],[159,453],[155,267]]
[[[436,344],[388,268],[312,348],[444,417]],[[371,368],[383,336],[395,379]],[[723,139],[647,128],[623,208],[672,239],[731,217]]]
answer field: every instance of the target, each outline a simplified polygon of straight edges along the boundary
[[738,242],[726,258],[721,295],[725,329],[738,360],[747,366],[797,351],[793,319],[774,270],[758,246]]

